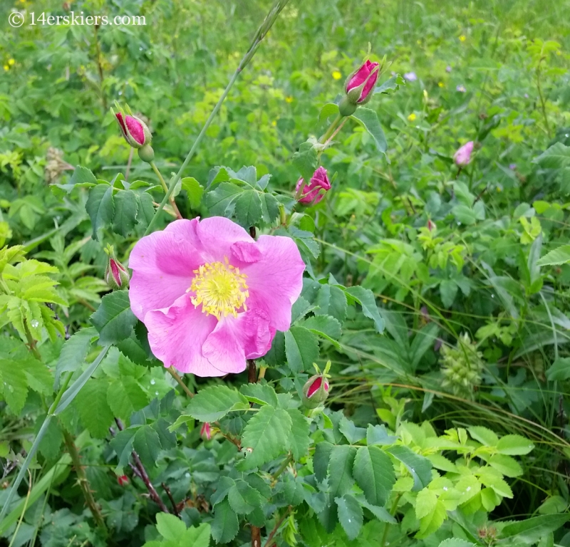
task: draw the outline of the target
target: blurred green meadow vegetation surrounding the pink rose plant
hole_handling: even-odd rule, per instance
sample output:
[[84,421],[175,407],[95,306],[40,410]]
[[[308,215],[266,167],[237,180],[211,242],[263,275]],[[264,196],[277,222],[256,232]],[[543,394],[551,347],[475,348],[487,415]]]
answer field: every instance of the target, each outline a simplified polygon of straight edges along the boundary
[[[23,274],[6,266],[12,259],[0,255],[3,283],[12,294],[21,291],[15,307],[0,301],[0,506],[53,401],[54,379],[57,390],[61,373],[78,377],[83,359],[93,363],[99,353],[90,348],[97,335],[90,316],[108,292],[105,244],[127,262],[147,225],[139,215],[136,225],[103,226],[93,239],[98,226],[86,211],[90,189],[76,187],[88,179],[73,170],[81,165],[98,180],[113,182],[122,173],[129,181],[158,184],[149,165],[130,157],[110,113],[118,100],[147,120],[163,174],[177,172],[269,8],[267,1],[254,0],[1,2],[0,247],[23,245],[26,275],[49,274],[58,284],[42,278],[36,299],[50,307],[26,311],[21,302],[35,297],[26,293],[29,287],[18,277]],[[144,15],[146,26],[11,28],[5,21],[12,9]],[[362,286],[375,295],[380,314],[373,324],[361,306],[346,306],[346,296],[343,305],[329,301],[328,316],[343,330],[320,338],[316,362],[323,368],[331,360],[333,388],[326,418],[311,425],[306,459],[291,466],[292,457],[281,458],[266,468],[261,476],[271,486],[267,495],[253,479],[239,479],[270,500],[257,524],[247,517],[255,506],[252,499],[247,506],[247,496],[245,507],[217,500],[228,514],[239,515],[239,530],[232,533],[222,517],[212,521],[212,496],[222,490],[220,476],[234,466],[234,445],[226,437],[243,424],[221,423],[214,439],[202,442],[192,417],[215,420],[185,412],[185,391],[156,360],[145,363],[145,356],[141,365],[123,342],[120,351],[111,348],[73,405],[48,424],[7,508],[10,516],[0,521],[0,544],[202,546],[210,528],[191,528],[201,523],[212,524],[212,543],[239,546],[249,542],[253,522],[267,547],[439,546],[451,538],[467,543],[446,546],[570,546],[564,528],[570,500],[570,255],[563,247],[555,259],[540,260],[566,244],[569,226],[569,9],[566,0],[291,0],[185,172],[206,194],[214,167],[238,172],[254,165],[258,178],[271,174],[269,189],[290,208],[299,178],[294,152],[326,130],[321,109],[341,97],[343,81],[362,58],[369,51],[373,61],[387,56],[391,64],[380,83],[391,72],[407,75],[405,84],[398,80],[397,89],[376,94],[368,104],[378,113],[386,153],[364,127],[348,120],[320,157],[333,189],[301,221],[315,238],[304,249],[306,261],[311,257],[306,301],[322,309],[316,295],[321,286],[333,295],[337,285]],[[473,160],[460,168],[453,154],[467,141],[475,141]],[[182,216],[212,214],[207,195],[197,194],[187,188],[177,194]],[[171,219],[162,214],[158,227]],[[63,340],[77,332],[83,332],[84,348],[76,338],[62,353],[68,346]],[[283,340],[278,335],[266,357],[264,385],[299,392],[311,370],[286,368],[279,353]],[[239,386],[246,380],[243,375],[227,382]],[[217,385],[190,375],[185,382],[192,392]],[[180,415],[187,420],[169,430]],[[111,442],[123,427],[114,418],[127,428],[154,428],[160,442],[139,439],[135,448],[157,489],[166,485],[157,494],[163,505],[170,504],[167,491],[172,494],[177,510],[171,512],[180,512],[184,528],[155,517],[160,504],[138,464],[130,460],[137,471],[128,466],[133,439],[122,446]],[[482,426],[501,440],[477,429]],[[338,514],[322,516],[325,502],[306,492],[333,496],[316,486],[332,476],[326,478],[327,454],[319,477],[315,447],[391,442],[378,442],[371,429],[367,436],[366,427],[382,439],[396,434],[412,452],[430,457],[450,484],[432,483],[427,490],[429,472],[424,484],[413,464],[398,460],[398,481],[383,499],[386,509],[382,504],[395,520],[366,505],[354,509],[352,484],[337,485]],[[499,444],[507,435],[532,445],[523,446],[520,437]],[[529,453],[525,446],[534,449]],[[468,469],[476,458],[509,459],[493,467],[498,475],[477,475],[478,497],[449,501],[437,488],[460,491],[466,486],[457,484],[465,477],[437,459],[443,454],[447,461],[465,461]],[[123,471],[128,484],[116,478]],[[418,484],[401,482],[410,476],[425,491],[437,492],[418,501]],[[357,490],[366,484],[356,474],[354,479]],[[482,494],[486,489],[489,494]],[[436,514],[441,522],[432,521]],[[346,515],[359,519],[358,529]],[[512,521],[532,518],[541,520],[527,520],[528,529],[509,528]],[[192,535],[198,533],[204,537]]]

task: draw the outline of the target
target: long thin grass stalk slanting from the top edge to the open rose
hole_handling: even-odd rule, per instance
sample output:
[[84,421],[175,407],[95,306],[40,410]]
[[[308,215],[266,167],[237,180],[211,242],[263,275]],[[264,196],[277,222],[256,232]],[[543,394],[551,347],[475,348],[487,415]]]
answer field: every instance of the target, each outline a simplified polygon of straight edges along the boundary
[[204,123],[204,127],[202,127],[202,130],[199,132],[199,135],[196,137],[196,140],[194,141],[192,148],[190,148],[190,152],[188,152],[186,159],[184,160],[184,162],[180,166],[180,170],[178,170],[176,176],[173,177],[172,180],[170,181],[170,188],[166,192],[165,197],[162,198],[162,202],[160,202],[160,204],[159,204],[159,206],[155,212],[155,216],[152,217],[150,223],[148,224],[148,227],[145,231],[145,236],[150,234],[150,232],[154,228],[160,212],[165,207],[166,202],[170,199],[172,192],[174,192],[176,184],[178,183],[178,181],[182,177],[182,172],[184,172],[184,170],[186,169],[186,167],[190,163],[190,160],[192,160],[192,157],[194,157],[195,152],[198,149],[200,142],[202,142],[202,139],[204,138],[204,135],[206,134],[206,132],[208,130],[208,127],[212,124],[212,121],[214,120],[215,116],[217,115],[219,109],[222,107],[222,103],[224,103],[224,100],[226,100],[226,97],[229,93],[229,90],[232,89],[234,83],[237,80],[237,77],[242,72],[242,70],[247,66],[249,61],[252,60],[253,56],[255,55],[255,52],[257,51],[257,48],[259,48],[259,45],[261,44],[261,41],[265,38],[266,34],[269,32],[269,29],[271,28],[271,26],[273,26],[277,16],[279,16],[279,14],[281,13],[281,10],[284,9],[284,7],[286,6],[288,1],[289,0],[277,0],[274,3],[274,5],[271,6],[271,10],[269,11],[269,14],[267,14],[263,23],[261,23],[261,26],[259,26],[259,28],[257,29],[257,33],[255,34],[255,38],[252,41],[251,45],[249,46],[247,53],[244,55],[244,58],[242,58],[242,61],[239,62],[239,65],[236,68],[236,71],[234,72],[234,74],[232,75],[232,78],[230,78],[229,83],[227,84],[226,88],[224,89],[224,93],[222,93],[222,96],[219,98],[218,102],[214,106],[212,113],[210,113],[208,119],[206,120],[206,123]]

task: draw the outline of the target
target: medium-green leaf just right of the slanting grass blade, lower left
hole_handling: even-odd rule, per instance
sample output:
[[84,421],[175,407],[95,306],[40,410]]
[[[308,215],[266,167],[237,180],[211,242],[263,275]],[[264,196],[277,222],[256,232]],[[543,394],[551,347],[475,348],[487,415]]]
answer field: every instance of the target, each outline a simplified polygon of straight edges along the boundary
[[113,422],[113,412],[107,403],[109,383],[106,380],[91,378],[81,390],[81,397],[76,397],[74,404],[81,423],[93,437],[104,439]]

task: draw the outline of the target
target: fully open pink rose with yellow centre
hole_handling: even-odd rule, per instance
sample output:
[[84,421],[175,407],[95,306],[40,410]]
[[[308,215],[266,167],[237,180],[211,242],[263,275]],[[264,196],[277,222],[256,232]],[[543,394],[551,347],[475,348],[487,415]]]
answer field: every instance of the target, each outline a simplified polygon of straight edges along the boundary
[[241,373],[291,325],[305,264],[293,239],[259,236],[223,217],[177,220],[130,254],[130,306],[165,367]]

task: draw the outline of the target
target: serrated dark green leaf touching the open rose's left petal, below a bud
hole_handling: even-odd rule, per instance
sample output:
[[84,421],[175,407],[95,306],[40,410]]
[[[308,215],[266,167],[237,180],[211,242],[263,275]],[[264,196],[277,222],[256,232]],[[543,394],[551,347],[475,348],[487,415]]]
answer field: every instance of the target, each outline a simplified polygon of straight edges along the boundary
[[98,310],[90,319],[98,330],[100,345],[114,344],[129,338],[137,322],[130,310],[127,291],[113,291],[103,296]]

